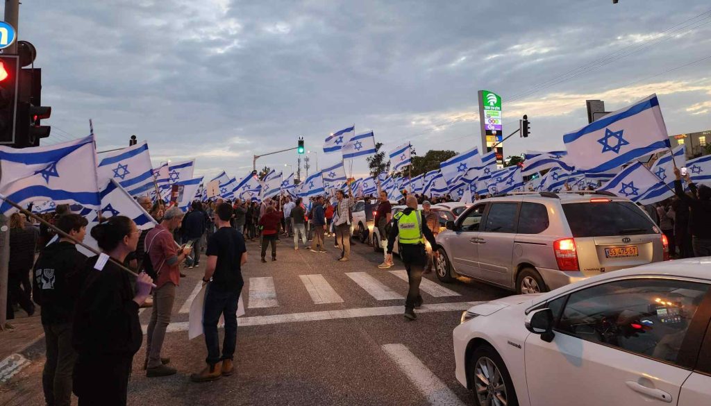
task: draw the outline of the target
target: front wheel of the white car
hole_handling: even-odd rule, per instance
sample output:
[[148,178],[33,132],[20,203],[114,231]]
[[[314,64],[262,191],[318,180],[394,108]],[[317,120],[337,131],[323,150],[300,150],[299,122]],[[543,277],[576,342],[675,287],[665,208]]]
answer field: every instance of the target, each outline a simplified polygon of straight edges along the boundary
[[511,375],[491,346],[480,346],[469,361],[471,388],[479,406],[518,406]]

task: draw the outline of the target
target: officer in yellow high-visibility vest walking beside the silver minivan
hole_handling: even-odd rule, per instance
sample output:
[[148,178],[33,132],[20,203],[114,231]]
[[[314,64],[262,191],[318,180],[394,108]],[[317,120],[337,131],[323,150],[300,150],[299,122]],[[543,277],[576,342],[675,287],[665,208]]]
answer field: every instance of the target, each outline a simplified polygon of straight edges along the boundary
[[[405,263],[410,289],[405,299],[405,318],[417,319],[415,308],[422,306],[422,297],[419,295],[419,282],[422,282],[422,272],[427,264],[427,254],[424,252],[424,240],[427,239],[432,247],[437,246],[432,231],[427,228],[427,223],[420,210],[417,210],[417,198],[407,196],[407,208],[392,217],[392,228],[387,236],[388,260],[392,261],[392,247],[395,238],[399,237],[400,258]],[[438,257],[434,251],[434,257]]]

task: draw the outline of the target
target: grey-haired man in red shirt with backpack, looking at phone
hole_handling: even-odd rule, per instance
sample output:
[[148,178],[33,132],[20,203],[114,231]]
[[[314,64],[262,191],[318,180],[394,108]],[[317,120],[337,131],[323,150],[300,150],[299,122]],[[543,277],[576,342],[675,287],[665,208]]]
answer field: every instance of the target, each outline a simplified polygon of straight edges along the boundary
[[180,263],[190,255],[192,248],[185,247],[178,252],[178,245],[173,240],[173,231],[183,221],[183,210],[171,207],[163,215],[163,221],[146,235],[146,252],[151,258],[151,265],[158,275],[156,289],[153,291],[153,313],[146,332],[146,361],[144,369],[149,378],[173,375],[175,368],[168,365],[168,358],[161,358],[161,348],[166,336],[166,328],[171,322],[173,301],[176,299],[176,287],[180,284]]

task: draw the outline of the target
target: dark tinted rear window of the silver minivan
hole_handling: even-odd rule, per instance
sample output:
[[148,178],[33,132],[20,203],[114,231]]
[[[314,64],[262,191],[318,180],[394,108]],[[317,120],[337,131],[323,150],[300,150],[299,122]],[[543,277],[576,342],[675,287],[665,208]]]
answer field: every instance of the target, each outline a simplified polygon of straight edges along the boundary
[[656,234],[654,223],[632,202],[563,204],[573,237]]

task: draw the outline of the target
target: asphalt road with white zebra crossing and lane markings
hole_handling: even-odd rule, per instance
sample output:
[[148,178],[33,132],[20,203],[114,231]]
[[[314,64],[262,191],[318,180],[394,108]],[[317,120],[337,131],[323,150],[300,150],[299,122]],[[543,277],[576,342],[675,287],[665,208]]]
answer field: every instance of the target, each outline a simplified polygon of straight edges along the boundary
[[[178,373],[146,378],[141,348],[129,405],[474,404],[454,377],[451,330],[470,302],[510,292],[464,277],[442,284],[430,274],[417,321],[406,321],[405,301],[396,299],[407,295],[407,282],[397,272],[404,271],[402,263],[396,259],[395,267],[378,269],[383,255],[358,242],[351,245],[350,262],[337,262],[340,250],[332,237],[327,242],[326,253],[294,251],[292,240],[282,237],[277,262],[266,264],[259,262],[257,243],[247,242],[237,373],[211,383],[189,380],[205,365],[206,350],[202,336],[188,340],[188,314],[180,310],[189,308],[203,267],[185,269],[163,351]],[[141,324],[148,324],[150,314],[142,311]],[[0,404],[44,404],[41,346],[31,361],[10,383],[0,384]]]

